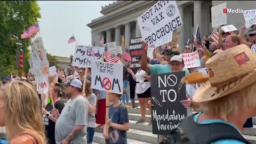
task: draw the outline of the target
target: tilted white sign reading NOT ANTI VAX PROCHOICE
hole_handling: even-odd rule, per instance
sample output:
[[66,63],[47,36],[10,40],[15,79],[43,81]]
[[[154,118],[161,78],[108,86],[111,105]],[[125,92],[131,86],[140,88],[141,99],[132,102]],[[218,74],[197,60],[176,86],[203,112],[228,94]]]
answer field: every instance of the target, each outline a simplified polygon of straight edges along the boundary
[[149,47],[171,42],[172,31],[182,25],[176,1],[158,1],[137,20],[142,38]]

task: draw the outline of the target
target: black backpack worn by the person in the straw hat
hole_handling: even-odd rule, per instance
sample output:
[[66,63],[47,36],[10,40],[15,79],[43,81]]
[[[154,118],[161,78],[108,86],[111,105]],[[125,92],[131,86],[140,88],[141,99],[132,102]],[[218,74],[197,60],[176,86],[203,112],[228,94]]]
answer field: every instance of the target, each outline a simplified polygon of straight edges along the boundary
[[[196,115],[196,114],[194,114]],[[172,130],[161,144],[209,144],[221,139],[235,139],[250,143],[233,126],[225,123],[198,124],[194,115],[183,119],[179,127]]]

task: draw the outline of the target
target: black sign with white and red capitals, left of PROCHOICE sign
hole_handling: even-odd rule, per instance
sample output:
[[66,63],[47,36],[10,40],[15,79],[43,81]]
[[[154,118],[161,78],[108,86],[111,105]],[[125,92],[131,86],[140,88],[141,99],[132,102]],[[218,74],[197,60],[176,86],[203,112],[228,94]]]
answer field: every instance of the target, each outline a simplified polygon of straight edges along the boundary
[[132,58],[131,69],[140,67],[140,64],[136,58],[138,56],[140,56],[143,52],[142,47],[141,47],[141,41],[142,41],[141,37],[130,39],[130,49],[129,50],[130,50],[130,55]]

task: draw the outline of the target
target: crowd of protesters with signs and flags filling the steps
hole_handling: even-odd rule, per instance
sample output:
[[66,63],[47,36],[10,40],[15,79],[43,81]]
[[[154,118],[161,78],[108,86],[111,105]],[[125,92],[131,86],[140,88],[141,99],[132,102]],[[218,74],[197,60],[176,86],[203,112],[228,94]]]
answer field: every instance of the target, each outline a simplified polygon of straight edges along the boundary
[[[177,18],[173,33],[164,32],[173,38],[182,25]],[[129,143],[127,108],[139,108],[135,123],[151,126],[157,143],[251,143],[242,134],[256,116],[255,24],[220,25],[202,38],[197,26],[185,45],[141,34],[139,54],[124,37],[121,46],[104,39],[101,47],[76,45],[69,71],[49,67],[42,37],[35,37],[29,73],[0,82],[1,142],[90,144],[101,130],[106,143]],[[42,57],[34,57],[38,52]]]

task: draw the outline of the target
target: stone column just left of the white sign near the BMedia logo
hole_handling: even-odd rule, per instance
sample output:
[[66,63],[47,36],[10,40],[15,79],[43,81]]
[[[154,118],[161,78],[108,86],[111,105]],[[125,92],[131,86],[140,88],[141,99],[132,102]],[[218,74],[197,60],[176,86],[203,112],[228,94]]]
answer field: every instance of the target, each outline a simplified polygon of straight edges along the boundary
[[199,30],[202,30],[202,2],[195,1],[194,2],[194,34],[196,33],[197,25],[199,26]]

